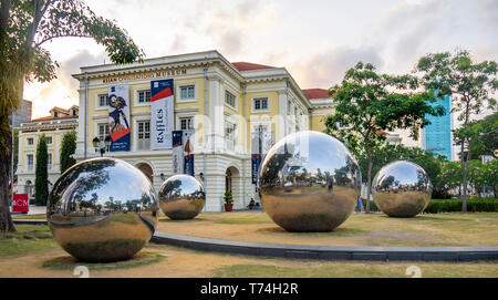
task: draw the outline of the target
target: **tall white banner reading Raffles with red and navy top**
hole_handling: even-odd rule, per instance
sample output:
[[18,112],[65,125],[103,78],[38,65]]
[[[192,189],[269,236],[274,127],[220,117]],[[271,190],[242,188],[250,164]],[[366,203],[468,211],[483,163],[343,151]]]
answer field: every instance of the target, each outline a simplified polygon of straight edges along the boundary
[[152,149],[172,148],[174,90],[173,79],[151,81]]

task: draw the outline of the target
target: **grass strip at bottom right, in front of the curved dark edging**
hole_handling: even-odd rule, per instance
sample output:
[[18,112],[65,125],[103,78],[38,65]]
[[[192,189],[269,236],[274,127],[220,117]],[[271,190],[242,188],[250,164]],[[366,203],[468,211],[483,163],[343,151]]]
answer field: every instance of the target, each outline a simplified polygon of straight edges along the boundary
[[422,277],[452,278],[496,278],[498,260],[477,262],[332,262],[320,267],[280,267],[269,265],[234,265],[215,270],[215,277],[221,278],[406,278],[406,269],[416,266]]

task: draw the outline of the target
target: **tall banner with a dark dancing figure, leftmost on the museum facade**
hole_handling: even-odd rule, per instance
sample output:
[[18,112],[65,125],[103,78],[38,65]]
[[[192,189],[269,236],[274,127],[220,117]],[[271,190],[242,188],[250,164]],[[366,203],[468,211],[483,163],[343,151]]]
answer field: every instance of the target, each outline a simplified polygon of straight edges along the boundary
[[127,84],[108,87],[108,130],[111,134],[110,151],[129,151],[129,92]]

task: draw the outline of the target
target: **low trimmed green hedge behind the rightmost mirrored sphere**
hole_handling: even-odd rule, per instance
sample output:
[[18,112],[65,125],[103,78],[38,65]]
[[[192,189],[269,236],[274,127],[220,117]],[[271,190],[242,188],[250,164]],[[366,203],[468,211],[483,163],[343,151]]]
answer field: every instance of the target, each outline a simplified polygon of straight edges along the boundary
[[[363,209],[365,209],[366,199],[363,199]],[[378,211],[374,201],[370,201],[370,210]],[[432,199],[424,209],[426,214],[461,211],[460,199]],[[471,198],[467,200],[467,211],[492,211],[498,213],[498,199],[496,198]]]

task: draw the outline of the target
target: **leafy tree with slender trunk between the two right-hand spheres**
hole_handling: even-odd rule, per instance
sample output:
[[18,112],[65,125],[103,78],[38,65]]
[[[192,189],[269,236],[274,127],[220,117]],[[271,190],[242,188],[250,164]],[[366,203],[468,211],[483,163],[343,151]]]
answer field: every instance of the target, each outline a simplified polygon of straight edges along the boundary
[[359,62],[347,70],[341,85],[329,90],[336,106],[325,120],[325,132],[364,152],[369,162],[366,213],[372,193],[372,148],[385,142],[382,131],[409,128],[411,136],[416,137],[418,128],[430,123],[426,114],[445,113],[443,106],[427,104],[435,101],[434,93],[415,92],[417,87],[415,76],[377,74],[374,65]]

